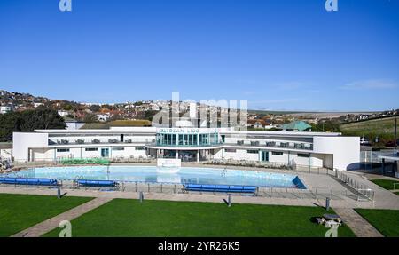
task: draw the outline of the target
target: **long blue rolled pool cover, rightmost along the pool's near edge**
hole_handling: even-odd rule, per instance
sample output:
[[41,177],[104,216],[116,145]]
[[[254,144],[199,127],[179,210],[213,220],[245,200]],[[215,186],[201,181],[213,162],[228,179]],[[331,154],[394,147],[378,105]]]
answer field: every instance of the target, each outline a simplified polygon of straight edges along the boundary
[[184,190],[226,193],[255,193],[255,186],[185,184]]

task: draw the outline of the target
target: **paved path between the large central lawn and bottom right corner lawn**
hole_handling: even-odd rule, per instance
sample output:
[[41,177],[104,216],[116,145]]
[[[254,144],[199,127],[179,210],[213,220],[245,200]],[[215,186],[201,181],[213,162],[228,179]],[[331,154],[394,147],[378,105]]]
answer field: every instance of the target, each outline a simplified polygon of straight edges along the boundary
[[[357,237],[384,237],[352,208],[333,208]],[[340,235],[340,232],[338,232]]]

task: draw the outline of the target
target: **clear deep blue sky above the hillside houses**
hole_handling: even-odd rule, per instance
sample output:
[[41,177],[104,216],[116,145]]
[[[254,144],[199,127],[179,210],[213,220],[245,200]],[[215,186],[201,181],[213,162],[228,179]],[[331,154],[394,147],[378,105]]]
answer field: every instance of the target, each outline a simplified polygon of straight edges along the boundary
[[399,108],[399,0],[0,1],[0,89],[54,99]]

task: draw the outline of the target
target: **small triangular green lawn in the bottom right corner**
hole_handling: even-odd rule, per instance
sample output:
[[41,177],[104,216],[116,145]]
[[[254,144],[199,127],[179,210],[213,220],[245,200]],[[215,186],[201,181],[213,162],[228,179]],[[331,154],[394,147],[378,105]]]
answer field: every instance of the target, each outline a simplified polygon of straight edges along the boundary
[[399,210],[356,209],[382,235],[399,236]]

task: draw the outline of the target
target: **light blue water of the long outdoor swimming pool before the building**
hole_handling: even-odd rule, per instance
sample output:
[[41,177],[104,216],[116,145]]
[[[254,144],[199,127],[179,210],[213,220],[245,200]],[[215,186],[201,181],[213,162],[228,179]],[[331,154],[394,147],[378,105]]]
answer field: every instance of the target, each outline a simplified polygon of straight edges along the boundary
[[296,175],[218,168],[155,166],[40,167],[5,174],[7,177],[51,179],[108,179],[175,184],[241,185],[305,188]]

